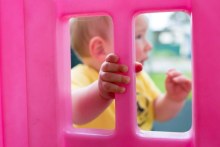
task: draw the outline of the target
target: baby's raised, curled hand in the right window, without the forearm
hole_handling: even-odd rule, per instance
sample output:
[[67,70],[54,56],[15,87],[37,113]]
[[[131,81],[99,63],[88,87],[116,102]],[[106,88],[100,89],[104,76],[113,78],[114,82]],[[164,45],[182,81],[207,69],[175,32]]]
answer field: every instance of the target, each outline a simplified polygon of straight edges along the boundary
[[174,101],[183,101],[191,91],[191,81],[180,72],[171,69],[165,81],[167,97]]

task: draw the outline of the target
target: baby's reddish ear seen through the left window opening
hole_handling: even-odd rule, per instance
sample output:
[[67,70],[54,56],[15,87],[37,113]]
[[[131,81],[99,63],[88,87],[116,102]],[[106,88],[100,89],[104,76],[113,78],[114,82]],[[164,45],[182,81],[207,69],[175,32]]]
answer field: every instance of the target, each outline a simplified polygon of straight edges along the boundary
[[102,62],[106,56],[105,43],[105,40],[99,36],[93,37],[89,42],[89,51],[91,56]]

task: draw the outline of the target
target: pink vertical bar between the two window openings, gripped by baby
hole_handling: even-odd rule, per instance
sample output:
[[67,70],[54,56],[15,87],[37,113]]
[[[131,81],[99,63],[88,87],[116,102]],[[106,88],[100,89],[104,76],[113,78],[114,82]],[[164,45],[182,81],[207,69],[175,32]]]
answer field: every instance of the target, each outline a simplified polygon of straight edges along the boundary
[[123,64],[129,65],[127,74],[131,77],[126,92],[116,96],[116,133],[119,134],[135,134],[137,131],[132,18],[127,12],[113,15],[115,54],[120,56]]

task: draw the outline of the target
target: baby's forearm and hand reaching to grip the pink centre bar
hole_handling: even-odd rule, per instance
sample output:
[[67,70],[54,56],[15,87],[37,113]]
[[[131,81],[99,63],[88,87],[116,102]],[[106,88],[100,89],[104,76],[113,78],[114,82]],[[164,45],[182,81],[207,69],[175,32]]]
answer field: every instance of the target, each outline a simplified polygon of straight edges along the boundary
[[[130,78],[122,75],[128,71],[128,67],[118,64],[119,58],[109,54],[102,64],[99,79],[91,85],[74,90],[72,92],[73,122],[85,124],[101,114],[115,98],[115,93],[124,93],[125,88],[118,84],[128,84]],[[136,63],[136,71],[142,69],[142,65]]]

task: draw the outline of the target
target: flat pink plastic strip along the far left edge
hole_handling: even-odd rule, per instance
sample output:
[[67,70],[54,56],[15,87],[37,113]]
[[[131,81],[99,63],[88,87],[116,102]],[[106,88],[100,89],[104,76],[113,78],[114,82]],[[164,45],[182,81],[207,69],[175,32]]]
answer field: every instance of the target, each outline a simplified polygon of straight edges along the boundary
[[0,0],[0,85],[4,147],[28,146],[24,2]]

